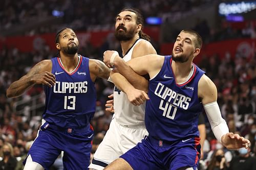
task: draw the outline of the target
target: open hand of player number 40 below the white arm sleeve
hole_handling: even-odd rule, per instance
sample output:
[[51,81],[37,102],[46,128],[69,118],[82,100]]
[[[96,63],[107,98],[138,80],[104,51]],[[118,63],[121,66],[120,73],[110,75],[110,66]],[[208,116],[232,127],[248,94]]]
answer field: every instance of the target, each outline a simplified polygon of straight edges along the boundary
[[227,149],[249,148],[250,141],[239,134],[227,133],[221,137],[222,144]]

